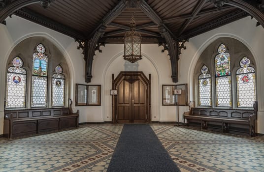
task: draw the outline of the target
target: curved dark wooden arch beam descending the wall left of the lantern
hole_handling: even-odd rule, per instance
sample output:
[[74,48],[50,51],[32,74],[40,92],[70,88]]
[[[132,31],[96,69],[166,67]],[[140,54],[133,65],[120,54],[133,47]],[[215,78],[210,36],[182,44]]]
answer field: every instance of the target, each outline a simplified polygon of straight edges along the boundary
[[90,83],[92,79],[92,66],[94,55],[96,51],[96,47],[99,41],[99,38],[103,36],[106,26],[109,25],[121,12],[127,7],[126,0],[121,0],[106,16],[103,17],[101,23],[93,31],[93,34],[90,35],[88,39],[89,43],[87,46],[87,54],[86,57],[86,75],[85,75],[85,82]]

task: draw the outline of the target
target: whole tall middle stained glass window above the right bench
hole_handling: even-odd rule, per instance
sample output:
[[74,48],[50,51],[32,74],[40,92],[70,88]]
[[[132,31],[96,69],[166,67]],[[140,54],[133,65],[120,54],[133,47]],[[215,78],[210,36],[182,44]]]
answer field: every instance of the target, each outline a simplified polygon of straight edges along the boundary
[[218,47],[218,53],[215,57],[216,106],[230,107],[232,105],[230,54],[224,44]]

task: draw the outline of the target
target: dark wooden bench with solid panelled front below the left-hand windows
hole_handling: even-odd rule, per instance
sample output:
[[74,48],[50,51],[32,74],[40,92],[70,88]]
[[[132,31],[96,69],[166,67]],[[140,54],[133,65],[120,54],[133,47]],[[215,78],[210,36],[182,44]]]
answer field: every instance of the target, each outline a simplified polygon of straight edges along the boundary
[[71,108],[6,110],[3,137],[9,139],[78,126],[79,112],[73,113]]

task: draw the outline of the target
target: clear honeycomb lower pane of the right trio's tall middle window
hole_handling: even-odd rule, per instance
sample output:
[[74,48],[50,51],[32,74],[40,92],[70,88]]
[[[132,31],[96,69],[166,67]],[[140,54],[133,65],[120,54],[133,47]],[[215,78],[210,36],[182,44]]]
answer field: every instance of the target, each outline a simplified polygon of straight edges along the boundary
[[216,79],[216,106],[231,107],[231,77],[217,77]]

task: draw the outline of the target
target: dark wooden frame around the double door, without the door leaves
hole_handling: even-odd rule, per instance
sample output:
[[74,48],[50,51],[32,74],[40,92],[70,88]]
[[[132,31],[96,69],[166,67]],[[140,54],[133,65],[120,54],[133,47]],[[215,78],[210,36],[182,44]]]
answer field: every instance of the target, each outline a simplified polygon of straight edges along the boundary
[[[151,121],[151,74],[149,74],[149,79],[144,75],[142,71],[121,71],[118,76],[114,79],[114,74],[112,74],[112,89],[117,89],[118,83],[125,77],[138,77],[141,78],[144,84],[147,86],[146,90],[146,113],[147,119],[146,123]],[[112,95],[112,123],[117,123],[117,96]]]

